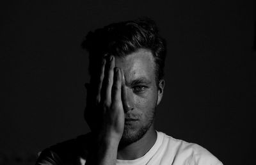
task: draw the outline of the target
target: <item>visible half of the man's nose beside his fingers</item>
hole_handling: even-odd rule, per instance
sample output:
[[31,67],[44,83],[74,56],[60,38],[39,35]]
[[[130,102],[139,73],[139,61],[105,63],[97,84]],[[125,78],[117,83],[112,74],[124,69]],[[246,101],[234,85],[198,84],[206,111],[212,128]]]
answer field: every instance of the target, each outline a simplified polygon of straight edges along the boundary
[[134,109],[134,98],[132,96],[132,91],[125,86],[122,86],[122,103],[124,107],[124,113],[132,111]]

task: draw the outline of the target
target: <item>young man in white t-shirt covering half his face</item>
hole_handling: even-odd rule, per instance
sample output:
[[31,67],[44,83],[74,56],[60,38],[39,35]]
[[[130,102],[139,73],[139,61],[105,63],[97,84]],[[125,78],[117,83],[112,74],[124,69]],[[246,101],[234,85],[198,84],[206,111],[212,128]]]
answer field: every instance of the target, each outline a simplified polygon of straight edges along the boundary
[[90,32],[84,118],[92,132],[45,149],[36,164],[222,164],[202,146],[154,129],[164,90],[166,45],[139,19]]

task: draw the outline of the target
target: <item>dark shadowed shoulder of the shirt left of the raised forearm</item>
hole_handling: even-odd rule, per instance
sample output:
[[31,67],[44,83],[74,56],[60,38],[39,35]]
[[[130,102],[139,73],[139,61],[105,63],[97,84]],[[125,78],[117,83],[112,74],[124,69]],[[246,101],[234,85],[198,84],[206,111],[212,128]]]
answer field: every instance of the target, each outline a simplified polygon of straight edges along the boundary
[[90,133],[77,136],[56,145],[45,148],[36,161],[36,164],[66,164],[76,161],[77,157],[84,157],[84,148],[89,147]]

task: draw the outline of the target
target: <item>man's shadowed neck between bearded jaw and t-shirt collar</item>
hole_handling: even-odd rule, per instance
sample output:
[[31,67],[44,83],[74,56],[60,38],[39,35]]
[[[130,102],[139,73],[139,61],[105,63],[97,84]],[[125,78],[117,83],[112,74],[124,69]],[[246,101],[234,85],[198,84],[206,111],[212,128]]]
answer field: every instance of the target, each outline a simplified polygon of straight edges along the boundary
[[153,123],[141,139],[130,145],[118,148],[117,159],[133,160],[142,157],[156,143],[156,139],[157,133]]

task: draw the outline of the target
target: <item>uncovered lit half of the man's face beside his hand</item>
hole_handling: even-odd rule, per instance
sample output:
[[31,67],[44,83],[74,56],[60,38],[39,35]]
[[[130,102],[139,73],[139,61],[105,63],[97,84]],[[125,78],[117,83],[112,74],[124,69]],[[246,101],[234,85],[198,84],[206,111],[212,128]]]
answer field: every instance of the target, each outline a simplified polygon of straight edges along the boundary
[[123,72],[122,103],[125,112],[124,134],[121,143],[133,143],[142,138],[152,126],[159,92],[152,53],[139,49],[124,58],[116,57],[116,67]]

